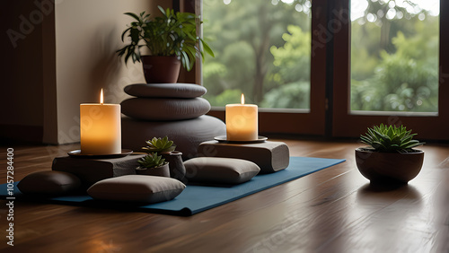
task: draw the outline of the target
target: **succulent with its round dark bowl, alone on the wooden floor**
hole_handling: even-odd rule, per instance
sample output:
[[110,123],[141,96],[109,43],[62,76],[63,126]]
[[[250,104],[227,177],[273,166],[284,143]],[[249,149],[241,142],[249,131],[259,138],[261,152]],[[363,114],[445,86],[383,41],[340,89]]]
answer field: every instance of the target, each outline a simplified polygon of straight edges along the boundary
[[405,126],[374,126],[360,135],[366,148],[356,149],[357,168],[371,182],[407,183],[421,170],[424,152],[414,149],[424,144],[413,140]]

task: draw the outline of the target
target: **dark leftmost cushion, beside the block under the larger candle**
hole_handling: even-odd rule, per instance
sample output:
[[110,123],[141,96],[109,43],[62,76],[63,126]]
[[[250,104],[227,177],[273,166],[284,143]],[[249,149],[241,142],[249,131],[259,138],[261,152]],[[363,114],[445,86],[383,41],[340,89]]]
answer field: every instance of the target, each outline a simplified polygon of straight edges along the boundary
[[81,181],[74,174],[64,171],[39,171],[23,178],[17,188],[24,194],[64,195],[78,190]]

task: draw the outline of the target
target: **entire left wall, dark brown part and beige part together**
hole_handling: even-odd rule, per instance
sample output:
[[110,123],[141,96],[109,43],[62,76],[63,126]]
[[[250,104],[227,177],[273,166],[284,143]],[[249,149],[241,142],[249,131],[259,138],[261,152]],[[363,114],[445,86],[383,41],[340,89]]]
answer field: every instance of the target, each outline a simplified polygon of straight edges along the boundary
[[[159,13],[157,5],[170,7],[172,1],[56,0],[50,12],[40,9],[51,2],[2,2],[1,31],[22,37],[14,43],[4,35],[0,40],[0,126],[35,126],[38,132],[43,128],[44,143],[75,143],[80,103],[98,102],[101,88],[106,102],[119,103],[127,97],[124,86],[144,81],[141,65],[127,67],[115,53],[131,21],[123,13]],[[32,28],[23,26],[23,19]],[[26,139],[26,133],[18,132]]]

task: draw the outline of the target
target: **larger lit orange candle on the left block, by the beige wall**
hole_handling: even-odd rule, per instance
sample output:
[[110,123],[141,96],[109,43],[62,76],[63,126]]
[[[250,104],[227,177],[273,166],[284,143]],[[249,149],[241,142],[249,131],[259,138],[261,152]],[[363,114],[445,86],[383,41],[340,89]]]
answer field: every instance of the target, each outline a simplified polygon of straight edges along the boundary
[[120,105],[100,103],[80,105],[81,153],[121,153]]

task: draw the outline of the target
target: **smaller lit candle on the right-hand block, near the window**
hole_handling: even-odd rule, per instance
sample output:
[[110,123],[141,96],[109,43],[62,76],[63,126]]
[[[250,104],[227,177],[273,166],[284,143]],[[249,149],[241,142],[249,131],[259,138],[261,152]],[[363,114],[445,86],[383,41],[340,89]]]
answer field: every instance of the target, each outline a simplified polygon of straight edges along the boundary
[[242,94],[240,104],[226,105],[226,139],[228,141],[254,141],[258,139],[257,105],[245,104]]

